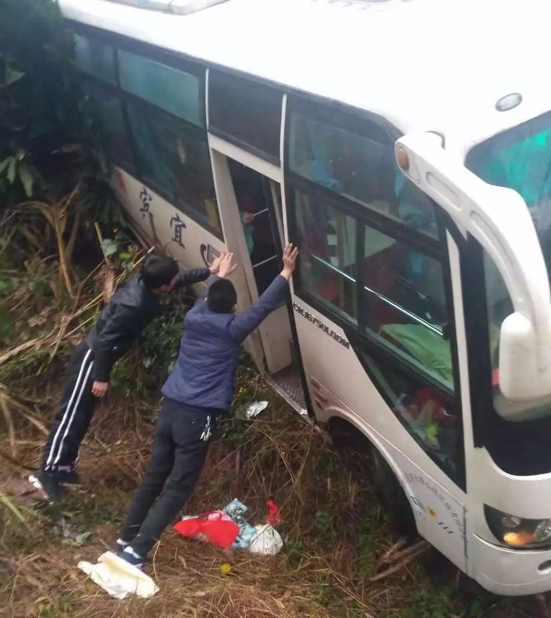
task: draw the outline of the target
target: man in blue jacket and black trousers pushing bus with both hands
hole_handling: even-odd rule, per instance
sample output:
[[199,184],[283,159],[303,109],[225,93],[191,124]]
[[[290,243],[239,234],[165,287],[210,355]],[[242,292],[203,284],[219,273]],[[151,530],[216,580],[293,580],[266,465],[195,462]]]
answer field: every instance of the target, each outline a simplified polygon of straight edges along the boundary
[[[241,343],[284,302],[298,250],[287,245],[284,268],[258,302],[235,314],[233,255],[184,320],[176,366],[165,382],[151,461],[116,541],[118,555],[139,568],[188,500],[204,465],[217,415],[230,410]],[[165,482],[168,483],[165,486]],[[160,496],[153,506],[155,499]]]

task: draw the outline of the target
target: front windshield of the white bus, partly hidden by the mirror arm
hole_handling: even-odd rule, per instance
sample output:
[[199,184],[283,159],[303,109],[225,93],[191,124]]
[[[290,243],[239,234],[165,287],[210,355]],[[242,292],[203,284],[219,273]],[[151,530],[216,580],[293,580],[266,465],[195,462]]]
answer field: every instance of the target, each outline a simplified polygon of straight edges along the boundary
[[[536,227],[547,272],[551,271],[551,112],[506,130],[474,146],[466,167],[492,185],[518,192],[526,202]],[[530,404],[514,404],[499,389],[498,346],[500,326],[513,313],[505,282],[490,256],[484,253],[484,279],[488,312],[488,345],[492,362],[493,405],[500,408],[530,407],[538,420],[510,422],[493,415],[493,448],[501,468],[518,475],[549,472],[551,398]],[[541,444],[540,444],[541,442]],[[540,446],[540,447],[539,447]]]

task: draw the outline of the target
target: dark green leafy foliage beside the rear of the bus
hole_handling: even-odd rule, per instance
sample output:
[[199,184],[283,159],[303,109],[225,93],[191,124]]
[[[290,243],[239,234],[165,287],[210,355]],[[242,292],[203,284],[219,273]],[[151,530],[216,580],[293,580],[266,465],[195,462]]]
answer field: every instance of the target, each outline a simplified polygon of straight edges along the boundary
[[[2,0],[1,14],[0,203],[15,208],[34,198],[54,206],[78,187],[74,213],[60,212],[53,222],[43,210],[56,235],[65,219],[67,230],[77,230],[85,211],[93,221],[126,225],[58,0]],[[67,273],[64,277],[71,289]]]

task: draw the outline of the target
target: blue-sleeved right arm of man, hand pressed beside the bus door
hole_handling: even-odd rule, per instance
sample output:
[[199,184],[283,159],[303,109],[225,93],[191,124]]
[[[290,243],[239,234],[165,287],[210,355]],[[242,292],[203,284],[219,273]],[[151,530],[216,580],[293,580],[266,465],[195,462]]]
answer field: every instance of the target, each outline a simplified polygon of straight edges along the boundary
[[285,300],[289,279],[295,272],[298,249],[289,244],[283,253],[283,270],[267,287],[261,297],[252,307],[235,317],[232,323],[233,336],[243,341],[254,329],[258,328],[266,317]]

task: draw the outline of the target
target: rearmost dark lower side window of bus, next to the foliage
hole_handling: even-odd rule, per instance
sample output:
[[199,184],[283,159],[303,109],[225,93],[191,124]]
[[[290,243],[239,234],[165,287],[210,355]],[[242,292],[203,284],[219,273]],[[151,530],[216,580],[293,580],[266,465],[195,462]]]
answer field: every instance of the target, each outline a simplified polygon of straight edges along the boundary
[[135,173],[132,148],[126,134],[121,101],[110,89],[102,88],[91,80],[82,82],[85,101],[89,106],[90,116],[95,119],[100,129],[102,146],[116,165],[131,174]]

